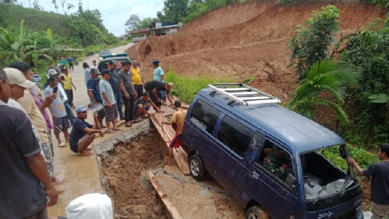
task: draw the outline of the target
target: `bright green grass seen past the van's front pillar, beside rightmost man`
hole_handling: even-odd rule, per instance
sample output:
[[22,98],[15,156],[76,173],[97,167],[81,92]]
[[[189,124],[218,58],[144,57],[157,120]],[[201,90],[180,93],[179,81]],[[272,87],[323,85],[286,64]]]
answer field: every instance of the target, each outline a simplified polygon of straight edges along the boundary
[[[355,161],[357,161],[358,165],[362,169],[367,169],[371,164],[379,162],[380,160],[378,157],[369,151],[366,151],[363,148],[360,147],[354,147],[351,145],[348,145],[350,155]],[[324,153],[322,154],[327,159],[329,159],[333,164],[335,164],[337,167],[347,170],[347,161],[344,160],[339,155],[339,148],[338,147],[332,147],[324,150]]]

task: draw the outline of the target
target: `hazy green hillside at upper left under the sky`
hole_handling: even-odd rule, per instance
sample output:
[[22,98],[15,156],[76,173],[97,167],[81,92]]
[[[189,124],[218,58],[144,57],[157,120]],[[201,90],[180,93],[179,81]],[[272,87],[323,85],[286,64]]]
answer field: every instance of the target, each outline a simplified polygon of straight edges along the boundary
[[20,21],[24,19],[24,27],[28,30],[46,31],[50,28],[53,31],[53,34],[67,37],[70,34],[70,30],[62,25],[66,16],[67,15],[11,4],[9,5],[9,13],[8,16],[5,17],[5,21],[8,24],[7,29],[12,32],[19,31]]

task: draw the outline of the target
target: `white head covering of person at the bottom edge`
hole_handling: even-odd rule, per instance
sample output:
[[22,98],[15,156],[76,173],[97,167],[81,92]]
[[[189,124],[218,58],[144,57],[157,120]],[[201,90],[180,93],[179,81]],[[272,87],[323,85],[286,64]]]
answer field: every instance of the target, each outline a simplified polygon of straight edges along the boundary
[[112,201],[106,194],[80,196],[67,205],[67,219],[113,219]]

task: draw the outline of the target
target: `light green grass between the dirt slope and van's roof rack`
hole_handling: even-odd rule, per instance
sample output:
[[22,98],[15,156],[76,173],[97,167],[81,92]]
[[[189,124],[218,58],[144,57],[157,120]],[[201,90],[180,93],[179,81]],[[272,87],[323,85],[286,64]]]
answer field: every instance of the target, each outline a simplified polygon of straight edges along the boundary
[[194,96],[201,90],[207,87],[209,84],[215,83],[232,83],[231,78],[223,80],[216,80],[212,76],[201,76],[187,78],[185,76],[178,76],[177,73],[169,68],[164,76],[165,82],[172,82],[174,89],[171,94],[176,95],[182,102],[191,103]]

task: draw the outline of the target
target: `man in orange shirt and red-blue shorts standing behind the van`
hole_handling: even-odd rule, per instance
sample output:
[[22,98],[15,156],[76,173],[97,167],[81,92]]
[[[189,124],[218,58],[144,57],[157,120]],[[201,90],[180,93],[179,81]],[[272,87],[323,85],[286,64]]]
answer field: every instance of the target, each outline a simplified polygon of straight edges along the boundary
[[181,135],[182,129],[184,128],[185,117],[187,115],[187,111],[181,109],[181,102],[176,100],[173,105],[176,112],[173,114],[171,121],[162,122],[166,125],[173,125],[173,128],[176,130],[176,135],[171,139],[169,145],[169,160],[167,161],[167,165],[172,165],[173,158],[173,148],[179,148],[181,145]]

